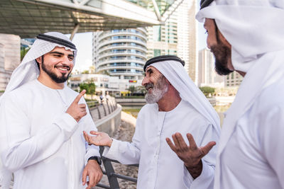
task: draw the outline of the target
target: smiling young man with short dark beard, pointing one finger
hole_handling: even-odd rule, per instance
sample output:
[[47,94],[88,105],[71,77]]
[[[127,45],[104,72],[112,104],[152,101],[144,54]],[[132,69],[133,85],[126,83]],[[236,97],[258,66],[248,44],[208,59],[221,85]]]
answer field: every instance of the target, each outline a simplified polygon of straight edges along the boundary
[[[98,147],[83,130],[97,130],[82,96],[66,85],[76,47],[62,33],[40,34],[13,71],[0,99],[2,188],[91,188],[102,178]],[[89,181],[86,182],[86,178]]]

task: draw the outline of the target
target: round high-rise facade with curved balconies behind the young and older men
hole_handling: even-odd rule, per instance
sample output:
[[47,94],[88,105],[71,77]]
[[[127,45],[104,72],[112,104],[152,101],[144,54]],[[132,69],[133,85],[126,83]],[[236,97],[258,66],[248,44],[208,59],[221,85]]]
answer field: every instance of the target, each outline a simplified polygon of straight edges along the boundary
[[94,33],[93,62],[97,72],[119,79],[143,79],[146,40],[144,28]]

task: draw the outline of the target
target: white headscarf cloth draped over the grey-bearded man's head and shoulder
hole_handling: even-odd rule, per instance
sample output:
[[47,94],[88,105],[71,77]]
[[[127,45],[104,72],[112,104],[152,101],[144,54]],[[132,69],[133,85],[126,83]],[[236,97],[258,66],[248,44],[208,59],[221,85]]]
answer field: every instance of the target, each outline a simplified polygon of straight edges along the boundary
[[219,116],[197,86],[190,79],[182,64],[168,60],[155,62],[150,66],[155,67],[162,73],[170,84],[180,93],[183,101],[190,103],[201,115],[214,125],[217,133],[220,131]]

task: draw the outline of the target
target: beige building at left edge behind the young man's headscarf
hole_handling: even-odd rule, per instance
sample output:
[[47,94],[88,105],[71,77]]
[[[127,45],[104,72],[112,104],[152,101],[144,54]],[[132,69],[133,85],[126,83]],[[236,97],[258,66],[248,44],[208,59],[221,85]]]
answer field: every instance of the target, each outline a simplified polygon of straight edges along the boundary
[[13,70],[20,64],[21,38],[18,35],[0,34],[0,91],[4,91]]

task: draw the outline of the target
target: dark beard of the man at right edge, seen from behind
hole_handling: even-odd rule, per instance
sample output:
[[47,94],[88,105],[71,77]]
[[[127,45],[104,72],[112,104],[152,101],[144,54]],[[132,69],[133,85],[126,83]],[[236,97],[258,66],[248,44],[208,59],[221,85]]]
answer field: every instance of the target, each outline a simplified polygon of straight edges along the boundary
[[229,47],[226,47],[223,42],[217,40],[217,45],[212,45],[210,50],[215,57],[215,70],[217,74],[228,75],[233,72],[227,67],[229,59],[231,58],[231,50]]

